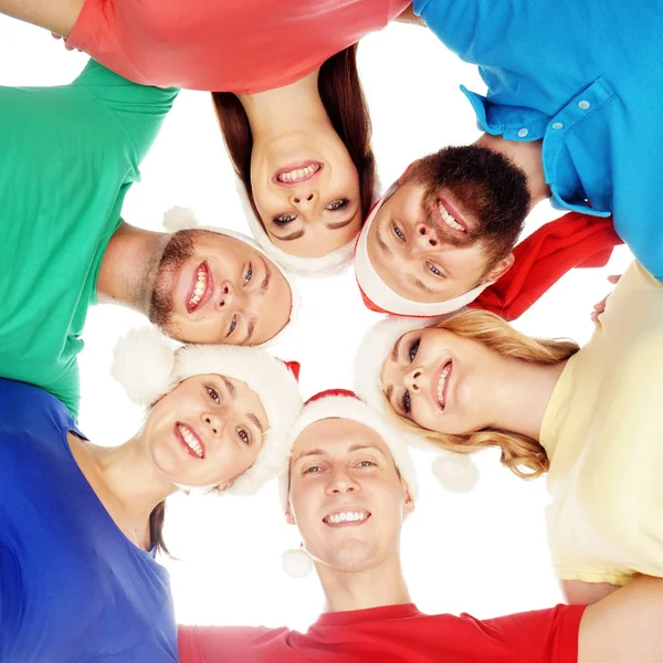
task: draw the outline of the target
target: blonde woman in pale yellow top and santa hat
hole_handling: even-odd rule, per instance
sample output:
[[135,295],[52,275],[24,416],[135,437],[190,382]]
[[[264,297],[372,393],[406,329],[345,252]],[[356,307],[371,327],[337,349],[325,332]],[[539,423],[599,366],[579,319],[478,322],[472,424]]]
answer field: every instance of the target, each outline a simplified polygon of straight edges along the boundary
[[433,444],[498,446],[518,476],[547,473],[552,564],[570,602],[663,577],[663,285],[639,263],[581,349],[481,311],[392,319],[365,339],[357,380]]

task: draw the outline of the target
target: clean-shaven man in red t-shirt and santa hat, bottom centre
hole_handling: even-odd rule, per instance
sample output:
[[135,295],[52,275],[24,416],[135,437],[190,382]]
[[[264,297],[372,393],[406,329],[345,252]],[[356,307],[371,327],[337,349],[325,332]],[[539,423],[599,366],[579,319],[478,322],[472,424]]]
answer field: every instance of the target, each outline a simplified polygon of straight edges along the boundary
[[402,433],[350,392],[325,392],[304,407],[290,444],[282,498],[303,549],[284,566],[292,575],[315,566],[326,611],[306,633],[180,627],[182,663],[660,661],[662,579],[641,578],[590,607],[483,621],[421,613],[400,562],[401,527],[417,498]]

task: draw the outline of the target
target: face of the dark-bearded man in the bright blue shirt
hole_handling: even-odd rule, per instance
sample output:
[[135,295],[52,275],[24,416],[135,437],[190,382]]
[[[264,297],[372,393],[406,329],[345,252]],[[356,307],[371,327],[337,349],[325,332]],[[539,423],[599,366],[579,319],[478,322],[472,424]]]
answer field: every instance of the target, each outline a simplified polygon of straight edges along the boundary
[[369,260],[396,293],[445,302],[495,281],[529,211],[524,173],[502,155],[466,146],[415,161],[368,230]]

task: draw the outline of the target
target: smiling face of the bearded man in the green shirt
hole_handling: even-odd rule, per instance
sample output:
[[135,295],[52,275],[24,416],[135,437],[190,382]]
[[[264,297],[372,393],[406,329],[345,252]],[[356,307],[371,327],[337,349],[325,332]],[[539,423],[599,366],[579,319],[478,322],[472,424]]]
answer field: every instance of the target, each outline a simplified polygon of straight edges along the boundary
[[255,249],[185,230],[164,251],[149,317],[188,343],[260,345],[287,325],[291,308],[285,276]]

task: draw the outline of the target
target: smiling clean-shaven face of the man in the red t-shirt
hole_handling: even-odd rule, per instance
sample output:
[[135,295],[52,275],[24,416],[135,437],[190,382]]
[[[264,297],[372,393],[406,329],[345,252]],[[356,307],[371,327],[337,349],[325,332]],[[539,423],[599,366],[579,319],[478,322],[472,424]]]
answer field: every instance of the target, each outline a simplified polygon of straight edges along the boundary
[[411,511],[389,448],[372,429],[325,419],[295,441],[286,516],[318,562],[356,572],[398,556]]

